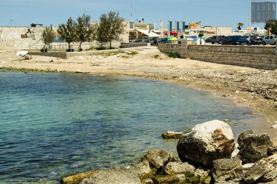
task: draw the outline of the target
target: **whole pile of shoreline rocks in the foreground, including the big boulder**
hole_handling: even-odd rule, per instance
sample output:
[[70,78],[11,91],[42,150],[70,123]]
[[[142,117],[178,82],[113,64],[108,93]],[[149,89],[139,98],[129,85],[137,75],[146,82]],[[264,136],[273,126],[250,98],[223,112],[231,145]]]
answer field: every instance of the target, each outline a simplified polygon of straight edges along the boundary
[[[167,132],[174,138],[178,132]],[[167,136],[168,138],[168,136]],[[242,132],[235,143],[231,127],[218,120],[196,125],[177,144],[179,159],[165,150],[149,150],[138,164],[91,171],[63,184],[213,184],[277,182],[277,139]]]

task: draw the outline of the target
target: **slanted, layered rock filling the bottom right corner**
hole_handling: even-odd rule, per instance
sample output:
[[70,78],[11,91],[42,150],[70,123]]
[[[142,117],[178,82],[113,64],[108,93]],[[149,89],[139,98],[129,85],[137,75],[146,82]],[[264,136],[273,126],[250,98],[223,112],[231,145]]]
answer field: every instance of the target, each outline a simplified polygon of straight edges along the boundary
[[277,181],[277,154],[259,160],[244,175],[246,183]]

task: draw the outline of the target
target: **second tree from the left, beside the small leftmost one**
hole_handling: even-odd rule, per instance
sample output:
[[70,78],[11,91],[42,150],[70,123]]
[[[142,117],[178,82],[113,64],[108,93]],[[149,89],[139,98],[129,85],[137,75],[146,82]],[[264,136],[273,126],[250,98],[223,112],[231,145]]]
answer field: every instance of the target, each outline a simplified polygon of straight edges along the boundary
[[69,44],[69,48],[70,48],[70,43],[76,39],[75,25],[76,25],[76,22],[73,21],[71,17],[69,17],[69,19],[66,22],[66,25],[65,24],[59,25],[59,28],[57,31],[59,35],[61,35],[61,39],[65,40]]

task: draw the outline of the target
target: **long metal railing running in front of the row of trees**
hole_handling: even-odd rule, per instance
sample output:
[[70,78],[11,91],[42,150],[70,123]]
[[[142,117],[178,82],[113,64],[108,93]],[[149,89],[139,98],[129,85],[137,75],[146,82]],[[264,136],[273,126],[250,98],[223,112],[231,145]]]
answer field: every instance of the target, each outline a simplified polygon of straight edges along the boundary
[[[30,45],[29,52],[82,52],[82,51],[104,51],[110,49],[139,47],[147,44],[151,39],[141,40],[122,40],[105,43],[89,43],[89,44],[60,44],[60,45]],[[144,45],[143,45],[144,46]]]

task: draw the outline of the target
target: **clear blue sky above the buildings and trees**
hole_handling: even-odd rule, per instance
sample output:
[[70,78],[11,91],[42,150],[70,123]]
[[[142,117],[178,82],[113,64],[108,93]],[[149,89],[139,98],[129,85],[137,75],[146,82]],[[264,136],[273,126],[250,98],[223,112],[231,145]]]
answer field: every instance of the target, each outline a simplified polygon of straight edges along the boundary
[[[91,21],[99,21],[102,13],[110,10],[119,11],[126,20],[131,20],[131,5],[133,6],[133,21],[144,18],[145,22],[163,20],[164,28],[167,20],[171,21],[201,21],[201,26],[232,26],[243,22],[248,26],[248,0],[0,0],[0,26],[30,26],[32,22],[44,26],[58,26],[65,23],[71,16],[76,19],[86,13],[91,15]],[[275,0],[271,0],[275,2]],[[251,24],[250,27],[264,28],[263,24]]]

